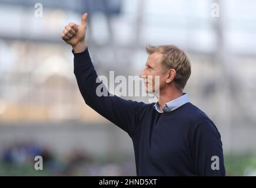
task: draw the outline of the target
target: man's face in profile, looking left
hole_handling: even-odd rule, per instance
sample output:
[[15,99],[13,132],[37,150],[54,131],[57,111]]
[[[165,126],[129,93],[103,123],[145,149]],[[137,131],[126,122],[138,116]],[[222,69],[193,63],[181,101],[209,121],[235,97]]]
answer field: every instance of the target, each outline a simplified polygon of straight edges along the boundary
[[[144,78],[145,92],[155,93],[167,86],[167,69],[162,65],[162,53],[152,53],[148,56],[144,70],[139,77]],[[159,80],[159,83],[158,83]]]

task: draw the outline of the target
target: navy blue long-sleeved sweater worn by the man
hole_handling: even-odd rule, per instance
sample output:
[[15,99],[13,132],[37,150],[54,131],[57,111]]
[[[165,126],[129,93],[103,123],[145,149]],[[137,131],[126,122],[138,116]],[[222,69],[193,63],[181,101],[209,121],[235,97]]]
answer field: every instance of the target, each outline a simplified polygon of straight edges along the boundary
[[85,103],[131,137],[138,176],[225,176],[220,133],[192,103],[159,113],[154,103],[98,97],[88,49],[74,53],[74,73]]

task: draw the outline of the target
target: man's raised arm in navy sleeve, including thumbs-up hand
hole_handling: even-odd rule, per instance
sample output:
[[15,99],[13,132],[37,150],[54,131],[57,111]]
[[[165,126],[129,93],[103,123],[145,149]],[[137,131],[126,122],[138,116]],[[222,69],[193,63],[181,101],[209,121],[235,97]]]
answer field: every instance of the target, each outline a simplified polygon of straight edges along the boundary
[[82,15],[81,25],[69,23],[62,33],[62,39],[73,48],[74,73],[82,97],[88,106],[132,136],[139,129],[142,111],[147,105],[118,96],[109,96],[109,93],[108,96],[97,95],[97,87],[105,86],[102,82],[96,82],[98,75],[85,42],[86,30],[87,13]]

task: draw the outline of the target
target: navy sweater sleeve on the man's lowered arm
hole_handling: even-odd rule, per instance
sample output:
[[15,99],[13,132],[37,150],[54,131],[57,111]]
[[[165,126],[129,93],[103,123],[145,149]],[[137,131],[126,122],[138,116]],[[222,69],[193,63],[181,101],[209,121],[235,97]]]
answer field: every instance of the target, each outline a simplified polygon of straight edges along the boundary
[[214,123],[198,125],[194,139],[194,159],[198,176],[225,176],[221,135]]

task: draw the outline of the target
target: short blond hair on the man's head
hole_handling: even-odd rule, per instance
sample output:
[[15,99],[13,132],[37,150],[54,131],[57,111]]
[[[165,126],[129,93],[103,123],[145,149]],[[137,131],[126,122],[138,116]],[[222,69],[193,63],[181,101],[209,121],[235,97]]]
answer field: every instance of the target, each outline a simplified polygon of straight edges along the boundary
[[191,75],[191,65],[184,51],[174,45],[146,46],[148,55],[158,52],[162,53],[162,65],[168,69],[176,70],[174,82],[178,89],[184,89]]

